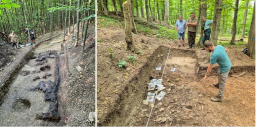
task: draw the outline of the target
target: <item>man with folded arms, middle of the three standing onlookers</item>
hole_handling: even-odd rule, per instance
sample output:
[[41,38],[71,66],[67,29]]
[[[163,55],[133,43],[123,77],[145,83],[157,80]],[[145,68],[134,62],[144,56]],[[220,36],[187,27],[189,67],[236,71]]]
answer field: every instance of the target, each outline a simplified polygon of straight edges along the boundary
[[197,25],[197,18],[195,17],[195,13],[192,12],[190,17],[187,20],[188,26],[188,49],[192,49],[195,44],[196,39],[196,25]]

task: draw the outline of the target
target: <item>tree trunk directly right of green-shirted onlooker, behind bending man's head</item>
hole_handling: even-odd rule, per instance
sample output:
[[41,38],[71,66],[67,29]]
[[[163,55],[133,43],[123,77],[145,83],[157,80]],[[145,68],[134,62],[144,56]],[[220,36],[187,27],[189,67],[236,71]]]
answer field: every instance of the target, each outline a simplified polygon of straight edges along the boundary
[[219,37],[219,27],[220,27],[221,13],[222,13],[222,8],[220,8],[221,5],[222,5],[222,0],[215,0],[212,36],[210,38],[210,40],[215,46],[217,45],[217,41]]

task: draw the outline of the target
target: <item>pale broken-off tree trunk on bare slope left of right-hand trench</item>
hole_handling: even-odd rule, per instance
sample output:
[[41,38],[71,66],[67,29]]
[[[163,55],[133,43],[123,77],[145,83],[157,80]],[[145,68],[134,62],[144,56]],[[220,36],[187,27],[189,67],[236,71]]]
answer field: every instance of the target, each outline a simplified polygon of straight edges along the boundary
[[135,46],[133,44],[133,37],[132,37],[132,24],[131,24],[131,10],[128,1],[123,3],[123,16],[125,21],[125,49],[131,52],[134,52]]

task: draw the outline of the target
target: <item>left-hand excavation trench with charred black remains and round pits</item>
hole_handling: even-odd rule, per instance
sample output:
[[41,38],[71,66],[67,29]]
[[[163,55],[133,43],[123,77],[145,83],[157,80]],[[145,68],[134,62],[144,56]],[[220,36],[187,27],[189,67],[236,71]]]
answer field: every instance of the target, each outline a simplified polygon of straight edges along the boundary
[[60,37],[38,44],[8,84],[0,105],[0,126],[63,125],[57,101],[61,45],[57,40]]

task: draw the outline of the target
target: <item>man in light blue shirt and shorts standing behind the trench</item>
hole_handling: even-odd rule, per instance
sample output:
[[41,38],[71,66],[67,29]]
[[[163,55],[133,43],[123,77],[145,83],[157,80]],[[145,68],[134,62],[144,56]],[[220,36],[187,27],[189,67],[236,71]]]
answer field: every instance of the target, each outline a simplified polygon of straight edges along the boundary
[[[186,21],[182,19],[182,16],[179,16],[179,19],[175,23],[176,31],[178,31],[178,47],[182,46],[185,47],[184,39],[185,39],[185,30],[186,30]],[[182,43],[180,38],[182,38]]]

